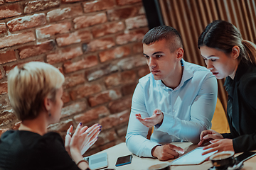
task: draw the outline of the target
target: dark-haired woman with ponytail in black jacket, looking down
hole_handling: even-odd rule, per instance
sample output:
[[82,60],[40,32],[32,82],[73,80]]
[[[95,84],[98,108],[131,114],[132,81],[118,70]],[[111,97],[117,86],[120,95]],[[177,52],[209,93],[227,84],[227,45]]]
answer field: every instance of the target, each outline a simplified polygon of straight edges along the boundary
[[243,40],[232,23],[213,21],[198,38],[198,48],[210,72],[217,79],[225,78],[230,125],[226,134],[201,132],[198,145],[210,142],[203,154],[256,149],[256,45]]

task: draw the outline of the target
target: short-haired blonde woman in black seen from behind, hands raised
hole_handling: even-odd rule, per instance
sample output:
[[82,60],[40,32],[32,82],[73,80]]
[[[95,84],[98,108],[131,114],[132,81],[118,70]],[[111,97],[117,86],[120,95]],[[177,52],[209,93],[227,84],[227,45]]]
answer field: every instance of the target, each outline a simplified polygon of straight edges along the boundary
[[47,132],[58,123],[63,101],[64,76],[43,62],[16,66],[8,75],[8,96],[18,130],[9,130],[0,139],[0,169],[89,169],[82,154],[96,142],[101,126],[78,125],[68,129],[65,146],[60,135]]

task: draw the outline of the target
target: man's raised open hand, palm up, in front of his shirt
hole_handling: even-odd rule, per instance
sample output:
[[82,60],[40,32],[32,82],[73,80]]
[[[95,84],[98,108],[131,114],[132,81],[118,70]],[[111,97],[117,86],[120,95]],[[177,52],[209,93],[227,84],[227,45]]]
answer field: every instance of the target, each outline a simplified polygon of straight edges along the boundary
[[147,128],[151,128],[156,124],[162,123],[164,114],[160,109],[155,109],[153,115],[150,118],[142,118],[141,114],[135,114],[137,120],[139,120]]

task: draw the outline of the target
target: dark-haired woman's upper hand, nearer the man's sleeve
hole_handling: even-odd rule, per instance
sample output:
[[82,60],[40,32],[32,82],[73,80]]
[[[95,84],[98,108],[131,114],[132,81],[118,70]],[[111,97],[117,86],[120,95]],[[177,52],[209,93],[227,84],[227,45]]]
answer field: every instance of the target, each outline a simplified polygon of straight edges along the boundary
[[201,135],[200,135],[200,142],[198,143],[198,146],[200,147],[205,143],[210,142],[210,140],[216,140],[216,139],[223,139],[223,136],[214,130],[203,130],[203,132],[201,132]]

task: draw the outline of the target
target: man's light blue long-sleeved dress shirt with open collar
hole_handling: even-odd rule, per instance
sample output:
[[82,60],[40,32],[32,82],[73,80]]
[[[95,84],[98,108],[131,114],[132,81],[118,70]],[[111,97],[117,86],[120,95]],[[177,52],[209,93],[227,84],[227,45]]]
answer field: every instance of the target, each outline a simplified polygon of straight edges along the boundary
[[[139,157],[152,157],[151,149],[159,142],[199,142],[201,131],[210,129],[215,111],[218,85],[205,67],[183,61],[181,83],[176,89],[155,80],[153,74],[139,79],[132,97],[132,109],[126,135],[129,150]],[[147,140],[149,128],[135,118],[153,115],[159,108],[164,113],[163,123],[154,127]]]

